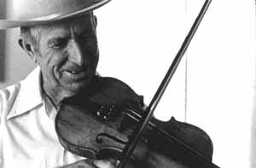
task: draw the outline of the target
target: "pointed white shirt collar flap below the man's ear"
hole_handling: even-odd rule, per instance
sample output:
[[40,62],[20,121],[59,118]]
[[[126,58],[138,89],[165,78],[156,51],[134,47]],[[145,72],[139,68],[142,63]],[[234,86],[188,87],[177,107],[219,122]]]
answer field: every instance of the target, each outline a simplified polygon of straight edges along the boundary
[[23,81],[20,82],[18,87],[20,87],[20,91],[7,119],[26,113],[44,103],[41,89],[40,67],[36,67]]

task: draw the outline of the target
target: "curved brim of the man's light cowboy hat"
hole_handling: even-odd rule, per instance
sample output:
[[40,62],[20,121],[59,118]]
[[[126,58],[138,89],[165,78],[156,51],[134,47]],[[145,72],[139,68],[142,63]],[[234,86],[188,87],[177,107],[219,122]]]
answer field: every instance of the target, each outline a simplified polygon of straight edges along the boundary
[[102,0],[101,2],[94,3],[90,7],[79,9],[78,11],[68,13],[68,14],[50,14],[44,17],[34,18],[32,20],[0,20],[0,29],[9,29],[20,26],[34,26],[45,24],[49,22],[54,22],[56,20],[65,20],[73,16],[86,14],[94,9],[102,7],[104,4],[108,3],[110,0]]

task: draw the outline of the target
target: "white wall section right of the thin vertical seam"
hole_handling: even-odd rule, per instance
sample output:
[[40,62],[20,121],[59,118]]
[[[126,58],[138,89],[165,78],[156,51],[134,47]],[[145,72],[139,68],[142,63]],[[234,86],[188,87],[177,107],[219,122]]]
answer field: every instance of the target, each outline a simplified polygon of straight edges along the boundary
[[[192,12],[193,5],[189,7]],[[254,1],[212,1],[188,50],[188,121],[210,133],[214,159],[223,167],[249,167],[255,78],[254,9]],[[254,149],[254,160],[255,156]]]

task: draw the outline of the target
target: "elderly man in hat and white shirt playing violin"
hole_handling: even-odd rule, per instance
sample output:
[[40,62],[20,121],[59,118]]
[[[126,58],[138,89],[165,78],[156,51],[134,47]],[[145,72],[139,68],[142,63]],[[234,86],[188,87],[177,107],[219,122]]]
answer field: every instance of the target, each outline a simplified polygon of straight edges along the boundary
[[0,167],[113,167],[84,160],[58,142],[56,106],[75,96],[96,73],[99,51],[93,9],[109,0],[14,0],[15,16],[0,28],[20,26],[19,44],[37,67],[0,91]]

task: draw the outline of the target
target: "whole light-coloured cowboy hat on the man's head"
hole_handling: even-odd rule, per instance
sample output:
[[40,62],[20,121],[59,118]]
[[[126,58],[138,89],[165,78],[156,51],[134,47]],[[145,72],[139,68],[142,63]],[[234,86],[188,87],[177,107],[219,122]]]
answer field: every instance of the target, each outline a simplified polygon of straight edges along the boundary
[[88,13],[110,0],[7,0],[9,14],[0,18],[0,29],[32,26]]

